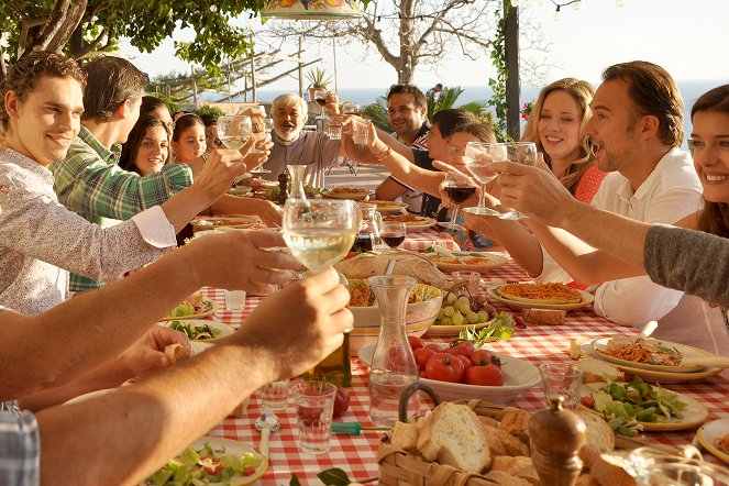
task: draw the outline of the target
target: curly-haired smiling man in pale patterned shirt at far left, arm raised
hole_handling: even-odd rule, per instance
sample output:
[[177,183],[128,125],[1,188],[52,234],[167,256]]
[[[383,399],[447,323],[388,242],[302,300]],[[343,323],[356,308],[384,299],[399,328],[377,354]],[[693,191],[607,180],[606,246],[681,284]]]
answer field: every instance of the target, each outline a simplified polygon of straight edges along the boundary
[[[47,169],[79,132],[84,74],[73,59],[37,52],[19,59],[3,82],[0,186],[9,190],[0,214],[0,305],[25,314],[66,299],[67,270],[111,280],[157,258],[245,172],[239,153],[221,152],[196,184],[164,205],[100,229],[58,203]],[[124,106],[139,113],[139,102]]]

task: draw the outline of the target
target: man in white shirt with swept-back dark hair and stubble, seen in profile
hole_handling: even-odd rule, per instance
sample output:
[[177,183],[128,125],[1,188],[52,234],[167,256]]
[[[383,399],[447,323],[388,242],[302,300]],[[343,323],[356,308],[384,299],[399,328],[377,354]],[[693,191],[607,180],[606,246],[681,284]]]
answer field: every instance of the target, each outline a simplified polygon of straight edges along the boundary
[[[671,76],[647,62],[608,67],[590,108],[586,134],[600,170],[610,172],[592,205],[649,223],[675,223],[703,205],[702,185],[683,142],[683,100]],[[598,284],[595,312],[642,328],[659,321],[654,335],[716,352],[721,316],[700,299],[653,284],[649,277],[609,280],[582,255],[594,248],[571,233],[524,220],[539,239],[541,257],[530,275],[544,281]],[[496,238],[499,240],[499,238]],[[687,325],[688,323],[692,325]],[[696,332],[698,323],[704,331]],[[725,332],[726,334],[726,332]]]

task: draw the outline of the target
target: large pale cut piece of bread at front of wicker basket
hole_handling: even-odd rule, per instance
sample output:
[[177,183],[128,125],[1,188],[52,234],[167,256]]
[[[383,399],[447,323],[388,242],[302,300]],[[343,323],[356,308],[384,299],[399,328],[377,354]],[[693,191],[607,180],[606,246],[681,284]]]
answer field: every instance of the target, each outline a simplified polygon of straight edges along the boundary
[[457,470],[481,473],[490,465],[486,433],[476,413],[465,405],[444,401],[426,418],[418,452]]

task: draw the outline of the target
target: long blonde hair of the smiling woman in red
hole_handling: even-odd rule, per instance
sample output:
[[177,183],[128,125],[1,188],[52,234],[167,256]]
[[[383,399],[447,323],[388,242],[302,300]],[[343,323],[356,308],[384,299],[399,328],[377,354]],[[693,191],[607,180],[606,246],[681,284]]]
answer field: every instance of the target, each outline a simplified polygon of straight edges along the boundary
[[544,107],[544,100],[549,95],[554,91],[564,91],[571,95],[577,102],[577,107],[582,111],[582,122],[579,123],[579,158],[570,164],[567,172],[564,176],[560,178],[560,181],[564,187],[574,195],[574,191],[577,187],[577,183],[582,175],[593,164],[595,164],[595,156],[589,146],[589,141],[587,135],[585,135],[585,126],[587,121],[593,115],[592,110],[589,109],[589,103],[593,101],[593,96],[595,95],[595,88],[587,81],[575,78],[564,78],[559,79],[541,90],[537,102],[534,102],[534,108],[531,110],[529,115],[529,121],[527,121],[527,126],[524,128],[524,134],[521,137],[523,142],[534,142],[537,150],[544,154],[544,162],[546,165],[552,168],[552,161],[546,152],[539,137],[539,119],[542,114],[542,108]]

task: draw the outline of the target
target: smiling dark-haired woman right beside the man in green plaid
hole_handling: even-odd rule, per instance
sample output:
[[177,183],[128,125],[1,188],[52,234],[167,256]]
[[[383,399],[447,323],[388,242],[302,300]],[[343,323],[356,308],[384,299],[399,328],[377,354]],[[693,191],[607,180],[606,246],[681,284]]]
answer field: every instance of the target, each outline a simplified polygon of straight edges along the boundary
[[172,132],[162,120],[154,117],[140,117],[122,145],[119,166],[140,175],[162,170],[169,156]]

